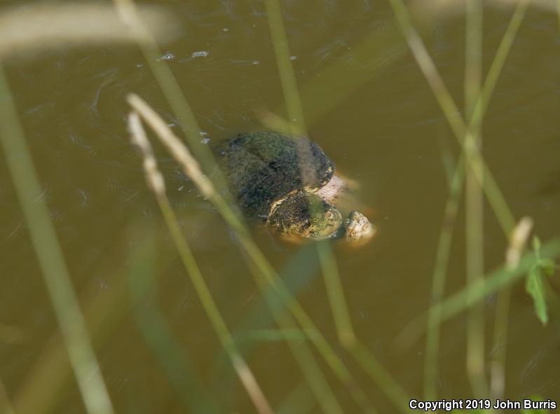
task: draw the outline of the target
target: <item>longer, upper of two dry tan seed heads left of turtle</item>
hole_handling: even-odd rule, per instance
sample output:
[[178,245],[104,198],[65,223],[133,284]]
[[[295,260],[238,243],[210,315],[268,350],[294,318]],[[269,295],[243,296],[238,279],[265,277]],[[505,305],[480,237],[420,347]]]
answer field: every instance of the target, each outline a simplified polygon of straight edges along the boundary
[[127,97],[127,101],[132,106],[142,119],[153,129],[163,145],[167,147],[172,156],[177,159],[177,162],[184,168],[186,175],[193,180],[200,193],[207,199],[211,199],[214,194],[214,186],[212,182],[203,174],[200,164],[192,156],[191,152],[183,144],[177,135],[170,130],[168,125],[161,119],[156,111],[138,95],[131,93]]

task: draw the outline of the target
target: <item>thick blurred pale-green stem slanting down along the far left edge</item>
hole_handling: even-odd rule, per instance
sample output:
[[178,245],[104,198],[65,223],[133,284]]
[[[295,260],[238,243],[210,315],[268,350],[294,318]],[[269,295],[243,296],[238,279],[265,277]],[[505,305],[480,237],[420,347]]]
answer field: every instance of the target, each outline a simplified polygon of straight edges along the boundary
[[4,67],[1,65],[0,140],[86,409],[90,414],[111,414],[111,400],[90,343],[53,222],[41,198],[39,177],[25,142]]

